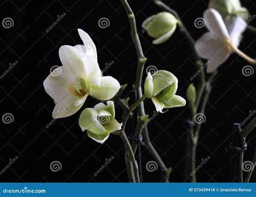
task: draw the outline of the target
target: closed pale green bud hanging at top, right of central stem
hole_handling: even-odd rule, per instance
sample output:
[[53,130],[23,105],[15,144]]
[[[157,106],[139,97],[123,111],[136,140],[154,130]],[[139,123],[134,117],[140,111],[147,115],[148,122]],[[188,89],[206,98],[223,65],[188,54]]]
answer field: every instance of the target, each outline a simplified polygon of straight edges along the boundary
[[144,20],[142,27],[149,36],[155,38],[153,44],[161,44],[172,36],[177,23],[178,20],[171,13],[160,12]]

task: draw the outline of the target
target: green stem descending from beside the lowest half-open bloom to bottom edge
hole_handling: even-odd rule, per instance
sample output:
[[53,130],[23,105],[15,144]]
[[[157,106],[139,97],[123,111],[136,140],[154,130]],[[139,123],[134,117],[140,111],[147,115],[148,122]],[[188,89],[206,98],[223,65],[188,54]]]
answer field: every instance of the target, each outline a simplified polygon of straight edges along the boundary
[[[126,167],[128,166],[129,168],[127,169],[128,175],[130,177],[130,180],[132,180],[132,177],[135,177],[135,181],[139,182],[139,168],[138,168],[138,164],[137,161],[134,157],[133,151],[132,151],[132,147],[131,144],[129,142],[129,139],[127,138],[126,134],[124,131],[119,131],[117,132],[119,137],[123,140],[124,145],[125,145],[125,158],[128,157],[129,160],[126,159],[126,163],[129,164],[129,162],[132,163],[132,170],[130,169],[129,165],[126,165]],[[133,172],[133,173],[132,173]]]

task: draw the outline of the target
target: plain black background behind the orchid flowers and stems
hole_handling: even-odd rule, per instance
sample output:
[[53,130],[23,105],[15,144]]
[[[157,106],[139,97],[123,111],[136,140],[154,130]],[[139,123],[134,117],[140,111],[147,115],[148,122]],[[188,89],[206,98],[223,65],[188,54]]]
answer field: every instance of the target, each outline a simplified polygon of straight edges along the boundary
[[[206,28],[197,29],[194,20],[202,17],[208,1],[165,1],[176,9],[191,32],[198,39]],[[183,35],[176,31],[171,39],[161,45],[153,45],[152,38],[142,32],[141,24],[147,17],[162,11],[151,1],[129,1],[136,15],[137,27],[145,57],[145,65],[166,69],[179,79],[178,95],[185,97],[190,77],[197,72]],[[255,2],[244,1],[251,13],[255,13]],[[10,158],[18,157],[11,167],[0,175],[2,182],[125,182],[127,175],[124,165],[123,143],[118,136],[111,136],[100,145],[87,137],[78,125],[80,111],[93,107],[96,100],[87,98],[77,114],[52,121],[54,103],[43,87],[43,80],[50,68],[59,65],[58,48],[62,45],[82,44],[77,29],[90,34],[98,51],[101,69],[114,62],[104,75],[111,75],[120,84],[129,84],[124,96],[129,94],[134,81],[137,55],[130,37],[130,24],[125,10],[119,1],[1,1],[1,21],[6,17],[14,20],[14,26],[1,29],[1,73],[9,64],[18,61],[1,83],[1,116],[11,113],[14,122],[3,124],[0,135],[0,166],[4,168]],[[53,27],[58,15],[66,16]],[[106,17],[110,26],[101,29],[98,20]],[[256,20],[251,22],[255,26]],[[239,47],[255,57],[255,35],[244,33]],[[226,182],[229,171],[229,155],[225,147],[231,142],[232,124],[242,122],[250,111],[255,109],[255,74],[242,75],[242,67],[248,63],[233,54],[219,69],[213,82],[213,91],[208,100],[206,122],[200,133],[197,161],[211,157],[197,172],[199,182]],[[146,72],[144,72],[143,80]],[[197,83],[197,78],[193,81]],[[152,102],[146,101],[146,112],[153,114]],[[116,108],[120,121],[122,110]],[[185,174],[186,133],[183,121],[187,117],[187,105],[170,109],[157,115],[150,123],[150,136],[153,145],[163,158],[167,167],[172,166],[171,182],[189,181]],[[129,126],[129,128],[131,128]],[[130,131],[127,131],[128,133]],[[255,135],[247,138],[248,150],[245,161],[252,159],[255,149]],[[96,177],[93,175],[106,158],[114,157],[107,167]],[[50,163],[60,161],[62,170],[52,172]],[[143,180],[157,182],[159,170],[147,172],[145,165],[153,160],[142,149]],[[252,181],[255,181],[255,173]]]

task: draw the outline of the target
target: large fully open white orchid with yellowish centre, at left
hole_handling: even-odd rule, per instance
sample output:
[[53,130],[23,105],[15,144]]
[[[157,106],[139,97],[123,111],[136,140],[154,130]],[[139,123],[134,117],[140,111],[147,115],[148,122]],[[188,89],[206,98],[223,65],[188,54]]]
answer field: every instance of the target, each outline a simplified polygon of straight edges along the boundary
[[63,66],[44,80],[46,93],[56,102],[52,112],[54,118],[75,114],[88,95],[105,101],[116,95],[120,88],[112,76],[101,76],[95,44],[83,30],[78,32],[84,45],[61,46],[59,58]]

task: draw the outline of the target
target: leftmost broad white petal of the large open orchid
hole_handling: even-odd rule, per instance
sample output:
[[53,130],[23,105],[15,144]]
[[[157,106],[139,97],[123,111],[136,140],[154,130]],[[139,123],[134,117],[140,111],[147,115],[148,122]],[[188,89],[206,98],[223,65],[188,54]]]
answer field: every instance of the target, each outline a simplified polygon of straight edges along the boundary
[[64,100],[67,94],[66,83],[73,82],[75,75],[67,66],[60,66],[56,68],[44,80],[44,89],[56,102]]

